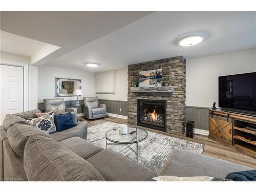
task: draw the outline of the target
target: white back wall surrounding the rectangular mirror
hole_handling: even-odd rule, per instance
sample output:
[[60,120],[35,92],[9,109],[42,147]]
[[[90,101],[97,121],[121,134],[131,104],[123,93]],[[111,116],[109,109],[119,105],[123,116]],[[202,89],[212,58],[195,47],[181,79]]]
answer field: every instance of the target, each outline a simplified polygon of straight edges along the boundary
[[[95,74],[83,71],[55,68],[48,66],[38,67],[38,102],[46,98],[55,98],[55,77],[81,79],[82,99],[84,96],[95,96]],[[61,97],[58,97],[61,98]],[[62,97],[65,100],[76,100],[75,97]]]

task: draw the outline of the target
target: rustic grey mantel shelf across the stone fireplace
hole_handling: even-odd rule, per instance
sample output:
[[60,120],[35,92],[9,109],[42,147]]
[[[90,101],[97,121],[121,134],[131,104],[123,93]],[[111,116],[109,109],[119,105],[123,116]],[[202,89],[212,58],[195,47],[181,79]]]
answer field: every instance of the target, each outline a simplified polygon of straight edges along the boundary
[[131,87],[131,92],[137,93],[173,93],[174,88],[172,86],[163,87]]

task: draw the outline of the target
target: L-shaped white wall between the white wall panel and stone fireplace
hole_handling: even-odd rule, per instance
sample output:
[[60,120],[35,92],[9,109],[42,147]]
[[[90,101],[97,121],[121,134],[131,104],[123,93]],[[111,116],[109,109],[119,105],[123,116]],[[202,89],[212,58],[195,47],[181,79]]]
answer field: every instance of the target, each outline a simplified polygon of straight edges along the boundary
[[99,99],[127,101],[127,68],[116,70],[115,94],[97,94]]

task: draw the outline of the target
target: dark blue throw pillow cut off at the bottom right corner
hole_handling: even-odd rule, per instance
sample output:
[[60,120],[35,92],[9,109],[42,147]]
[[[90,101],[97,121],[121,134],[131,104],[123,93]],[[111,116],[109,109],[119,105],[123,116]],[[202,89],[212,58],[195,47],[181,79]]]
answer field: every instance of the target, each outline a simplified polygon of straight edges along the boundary
[[244,172],[233,172],[226,176],[233,181],[256,181],[256,170],[245,170]]

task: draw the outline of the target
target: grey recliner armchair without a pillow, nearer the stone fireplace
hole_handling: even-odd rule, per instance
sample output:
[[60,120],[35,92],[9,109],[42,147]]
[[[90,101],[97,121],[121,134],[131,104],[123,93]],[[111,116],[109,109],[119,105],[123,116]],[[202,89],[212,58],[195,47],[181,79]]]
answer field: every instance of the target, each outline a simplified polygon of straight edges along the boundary
[[97,119],[106,116],[106,105],[99,104],[98,97],[83,97],[83,114],[87,119]]

